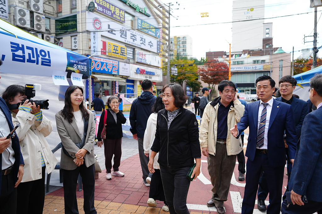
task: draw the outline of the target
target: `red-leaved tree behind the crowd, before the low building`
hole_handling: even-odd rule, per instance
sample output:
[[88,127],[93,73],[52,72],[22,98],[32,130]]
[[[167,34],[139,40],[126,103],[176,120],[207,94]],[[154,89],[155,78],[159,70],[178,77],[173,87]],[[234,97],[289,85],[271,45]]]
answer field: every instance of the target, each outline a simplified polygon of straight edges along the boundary
[[219,84],[222,80],[228,80],[228,71],[229,66],[227,63],[219,62],[218,60],[212,60],[198,69],[200,79],[207,83],[208,88],[211,89],[210,97],[213,97],[216,84]]

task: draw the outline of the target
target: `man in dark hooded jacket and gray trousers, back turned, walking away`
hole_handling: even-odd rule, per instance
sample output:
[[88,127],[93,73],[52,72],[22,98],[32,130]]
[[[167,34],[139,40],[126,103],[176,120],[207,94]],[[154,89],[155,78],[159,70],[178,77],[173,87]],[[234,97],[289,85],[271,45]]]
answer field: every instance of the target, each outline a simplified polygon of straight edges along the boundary
[[143,137],[145,129],[147,128],[147,119],[151,114],[151,108],[156,101],[156,97],[152,94],[152,81],[148,79],[143,80],[141,87],[143,90],[142,94],[133,101],[131,106],[129,118],[131,124],[130,131],[133,134],[133,139],[138,141],[143,182],[146,186],[150,186],[146,181],[147,176],[149,175],[149,170],[147,168],[149,158],[144,154]]

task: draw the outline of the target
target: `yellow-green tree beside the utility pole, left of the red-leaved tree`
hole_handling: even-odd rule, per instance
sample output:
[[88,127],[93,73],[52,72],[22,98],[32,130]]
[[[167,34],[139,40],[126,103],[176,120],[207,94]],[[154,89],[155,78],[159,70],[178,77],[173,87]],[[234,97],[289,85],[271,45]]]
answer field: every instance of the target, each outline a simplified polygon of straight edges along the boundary
[[[176,67],[178,69],[178,75],[170,75],[170,82],[177,82],[183,84],[185,80],[192,81],[198,78],[197,66],[193,60],[187,59],[172,59],[170,61],[170,67]],[[163,75],[166,76],[167,64],[162,67]],[[171,72],[171,68],[170,68]]]

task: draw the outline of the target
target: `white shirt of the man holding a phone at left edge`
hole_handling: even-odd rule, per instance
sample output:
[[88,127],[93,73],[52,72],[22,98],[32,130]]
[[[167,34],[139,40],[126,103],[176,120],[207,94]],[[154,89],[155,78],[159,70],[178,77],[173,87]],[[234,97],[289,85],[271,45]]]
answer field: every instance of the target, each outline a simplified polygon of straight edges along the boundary
[[[0,108],[0,137],[5,137],[10,133],[9,124],[5,113]],[[12,141],[10,139],[10,145],[2,152],[2,170],[7,169],[14,165],[14,150],[12,149]]]

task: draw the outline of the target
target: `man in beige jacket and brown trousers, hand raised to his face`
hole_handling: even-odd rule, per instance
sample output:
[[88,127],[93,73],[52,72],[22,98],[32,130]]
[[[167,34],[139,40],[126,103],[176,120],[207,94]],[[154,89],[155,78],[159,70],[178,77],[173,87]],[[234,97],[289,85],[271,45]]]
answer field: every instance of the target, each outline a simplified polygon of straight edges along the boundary
[[204,156],[208,157],[208,172],[213,185],[212,198],[207,206],[216,206],[217,213],[224,214],[223,202],[227,201],[236,155],[242,151],[241,139],[232,137],[230,129],[240,121],[245,107],[237,99],[232,81],[221,81],[218,91],[220,97],[204,109],[199,141]]

